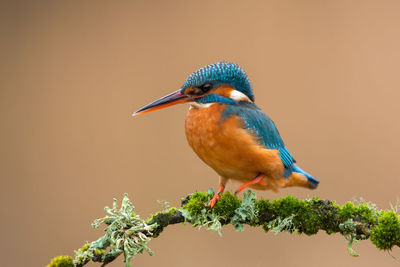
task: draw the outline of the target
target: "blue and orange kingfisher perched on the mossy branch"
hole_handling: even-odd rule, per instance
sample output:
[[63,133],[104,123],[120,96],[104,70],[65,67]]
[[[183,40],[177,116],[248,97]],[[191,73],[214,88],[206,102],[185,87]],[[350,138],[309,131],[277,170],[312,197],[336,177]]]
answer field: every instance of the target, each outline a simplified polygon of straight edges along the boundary
[[133,116],[189,103],[185,133],[198,157],[219,175],[214,207],[229,180],[241,182],[235,195],[250,187],[272,190],[319,181],[303,171],[286,148],[275,123],[255,103],[252,85],[234,63],[218,62],[193,72],[181,88],[133,113]]

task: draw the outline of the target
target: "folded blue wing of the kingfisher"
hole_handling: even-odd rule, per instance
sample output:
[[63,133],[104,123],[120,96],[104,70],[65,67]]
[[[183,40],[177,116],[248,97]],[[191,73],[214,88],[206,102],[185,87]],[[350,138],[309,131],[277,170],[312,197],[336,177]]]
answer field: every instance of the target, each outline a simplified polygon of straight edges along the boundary
[[296,162],[285,147],[275,123],[255,104],[240,102],[237,105],[226,105],[223,116],[237,115],[243,119],[244,127],[259,137],[260,145],[279,151],[283,165],[284,176],[289,177]]

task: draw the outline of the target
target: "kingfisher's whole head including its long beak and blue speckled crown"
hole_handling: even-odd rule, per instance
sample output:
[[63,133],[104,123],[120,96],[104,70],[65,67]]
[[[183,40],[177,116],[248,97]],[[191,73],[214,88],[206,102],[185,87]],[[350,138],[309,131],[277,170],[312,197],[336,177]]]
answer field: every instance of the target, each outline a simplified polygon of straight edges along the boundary
[[239,101],[254,102],[246,73],[234,63],[218,62],[193,72],[179,90],[142,107],[133,116],[186,102],[208,104]]

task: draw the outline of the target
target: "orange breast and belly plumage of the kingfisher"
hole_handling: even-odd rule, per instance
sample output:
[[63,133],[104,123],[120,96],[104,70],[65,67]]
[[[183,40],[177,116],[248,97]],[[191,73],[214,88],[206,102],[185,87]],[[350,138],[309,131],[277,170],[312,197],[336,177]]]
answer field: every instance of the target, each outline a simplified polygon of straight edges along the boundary
[[186,138],[196,154],[219,175],[247,181],[258,173],[269,178],[283,177],[279,153],[265,149],[243,129],[242,121],[231,116],[222,121],[224,104],[208,108],[191,107],[185,122]]

